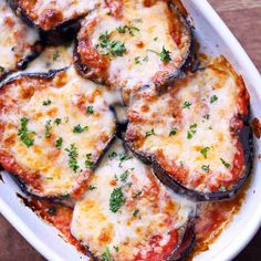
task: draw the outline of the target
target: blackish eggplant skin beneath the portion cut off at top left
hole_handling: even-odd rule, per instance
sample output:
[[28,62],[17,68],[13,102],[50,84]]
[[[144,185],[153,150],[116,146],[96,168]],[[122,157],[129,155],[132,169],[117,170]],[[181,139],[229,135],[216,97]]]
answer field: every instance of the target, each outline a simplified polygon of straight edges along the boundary
[[64,44],[64,42],[71,41],[76,35],[81,23],[80,20],[84,15],[80,15],[77,19],[67,20],[58,24],[55,28],[51,30],[43,30],[41,27],[35,24],[32,19],[27,15],[27,12],[19,6],[17,0],[8,0],[10,7],[13,11],[30,27],[39,30],[40,35],[44,44],[48,45],[59,45]]

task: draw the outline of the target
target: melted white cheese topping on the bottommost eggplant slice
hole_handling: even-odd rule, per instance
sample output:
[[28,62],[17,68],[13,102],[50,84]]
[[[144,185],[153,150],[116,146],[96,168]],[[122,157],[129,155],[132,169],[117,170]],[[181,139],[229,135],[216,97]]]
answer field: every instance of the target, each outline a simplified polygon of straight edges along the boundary
[[[138,253],[146,258],[153,248],[149,239],[159,234],[161,239],[156,251],[160,252],[169,241],[168,232],[186,226],[195,206],[165,188],[138,159],[132,157],[121,165],[118,155],[126,153],[122,143],[117,142],[108,155],[112,152],[117,156],[105,157],[90,181],[95,189],[88,190],[74,208],[72,233],[97,255],[108,247],[115,260],[125,261]],[[123,181],[121,175],[125,171],[127,177]],[[117,212],[112,212],[109,197],[119,187],[126,200]],[[136,216],[135,210],[138,210]]]

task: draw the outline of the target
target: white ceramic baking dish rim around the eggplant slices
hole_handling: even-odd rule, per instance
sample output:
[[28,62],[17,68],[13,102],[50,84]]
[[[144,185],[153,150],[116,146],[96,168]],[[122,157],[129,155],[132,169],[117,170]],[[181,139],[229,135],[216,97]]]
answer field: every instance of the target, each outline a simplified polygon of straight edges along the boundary
[[[227,46],[232,46],[229,49],[229,54],[225,55],[231,61],[231,63],[236,66],[239,73],[242,73],[247,86],[252,86],[251,94],[251,104],[254,107],[254,116],[261,116],[261,108],[258,104],[258,101],[261,101],[261,92],[258,92],[257,86],[261,86],[261,76],[242,49],[239,44],[237,39],[232,35],[229,31],[227,25],[222,22],[219,15],[213,11],[210,4],[206,0],[184,0],[185,6],[187,7],[188,11],[191,13],[191,17],[196,21],[196,13],[198,13],[201,19],[205,19],[208,23],[208,27],[211,28],[218,36],[223,41],[223,44]],[[195,15],[194,15],[195,14]],[[202,23],[202,22],[201,22]],[[200,31],[198,29],[198,24],[196,21],[196,32]],[[200,34],[199,34],[200,35]],[[212,39],[213,41],[213,39]],[[225,48],[223,48],[225,50]],[[220,50],[219,50],[220,51]],[[213,54],[219,54],[219,51]],[[211,53],[211,51],[210,51]],[[221,51],[222,52],[222,48]],[[255,88],[254,88],[255,86]],[[255,149],[258,153],[258,149]],[[249,189],[248,197],[246,199],[246,206],[250,205],[252,197],[252,191],[255,190],[255,197],[261,195],[261,178],[258,177],[258,173],[261,169],[259,163],[255,163],[255,168],[253,171],[253,178],[251,181],[251,188]],[[260,171],[261,173],[261,171]],[[18,188],[13,184],[13,181],[7,176],[4,177],[6,184],[0,184],[0,211],[1,213],[12,223],[12,226],[48,260],[87,260],[86,257],[82,257],[81,253],[77,253],[73,247],[70,244],[65,244],[62,239],[56,237],[56,239],[51,239],[56,233],[56,230],[51,228],[50,226],[43,223],[33,212],[31,212],[28,208],[23,206],[19,207],[19,199],[17,198],[14,191],[18,191]],[[257,190],[258,185],[260,185],[260,189]],[[2,189],[3,188],[3,189]],[[259,192],[260,191],[260,192]],[[259,195],[258,195],[259,194]],[[260,197],[259,197],[260,198]],[[17,200],[17,201],[15,201]],[[15,202],[14,202],[15,201]],[[249,201],[249,202],[248,202]],[[259,200],[260,201],[260,200]],[[21,203],[20,203],[21,205]],[[244,206],[243,206],[244,207]],[[246,207],[247,208],[247,207]],[[238,222],[238,226],[242,226],[242,220],[244,208],[242,211],[236,217],[236,221],[232,223]],[[242,212],[242,213],[241,213]],[[248,208],[247,208],[248,212]],[[241,215],[241,216],[240,216]],[[246,215],[244,215],[246,216]],[[251,220],[246,223],[244,228],[238,231],[238,233],[233,233],[232,236],[237,236],[237,240],[234,238],[234,242],[231,241],[231,237],[229,238],[230,228],[228,228],[215,242],[210,246],[210,250],[203,252],[202,254],[195,258],[197,261],[227,261],[234,258],[252,239],[257,230],[261,225],[261,202],[255,206],[254,215],[250,216]],[[247,218],[248,215],[247,215]],[[27,220],[27,221],[25,221]],[[241,220],[241,221],[240,221]],[[32,223],[30,223],[32,222]],[[232,223],[230,227],[232,227]],[[41,226],[41,228],[40,228]],[[234,226],[237,229],[237,225]],[[46,234],[44,233],[46,231]],[[51,236],[50,236],[51,234]],[[230,233],[231,234],[231,233]],[[41,236],[41,237],[40,237]],[[228,243],[226,243],[226,242]],[[232,243],[230,243],[230,241]],[[55,247],[53,247],[55,246]],[[227,246],[227,250],[226,247]],[[222,251],[220,251],[222,249]]]

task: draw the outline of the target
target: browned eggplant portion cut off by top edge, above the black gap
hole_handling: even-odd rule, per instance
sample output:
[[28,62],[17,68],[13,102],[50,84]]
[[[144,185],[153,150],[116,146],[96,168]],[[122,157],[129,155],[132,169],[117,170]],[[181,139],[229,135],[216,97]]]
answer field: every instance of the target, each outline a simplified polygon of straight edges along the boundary
[[42,31],[60,31],[103,3],[103,0],[8,0],[29,24]]

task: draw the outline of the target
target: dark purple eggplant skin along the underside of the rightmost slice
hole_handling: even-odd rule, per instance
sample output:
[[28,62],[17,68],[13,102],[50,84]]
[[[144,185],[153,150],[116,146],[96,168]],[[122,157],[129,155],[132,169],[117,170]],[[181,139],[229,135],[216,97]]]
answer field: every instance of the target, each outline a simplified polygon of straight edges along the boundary
[[152,164],[154,173],[158,177],[158,179],[166,186],[170,187],[175,192],[185,196],[194,201],[217,201],[217,200],[233,199],[238,195],[241,187],[247,181],[248,177],[250,176],[253,161],[253,136],[252,136],[252,128],[250,126],[250,113],[247,117],[244,117],[243,124],[244,126],[242,127],[241,132],[238,135],[243,146],[244,163],[246,163],[244,176],[238,180],[237,185],[233,187],[232,190],[227,190],[227,191],[203,194],[192,189],[188,189],[184,187],[181,184],[179,184],[177,180],[171,178],[171,175],[169,175],[157,163],[154,156],[146,155],[142,152],[135,150],[132,144],[127,142],[126,145],[137,158],[139,158],[147,165]]

